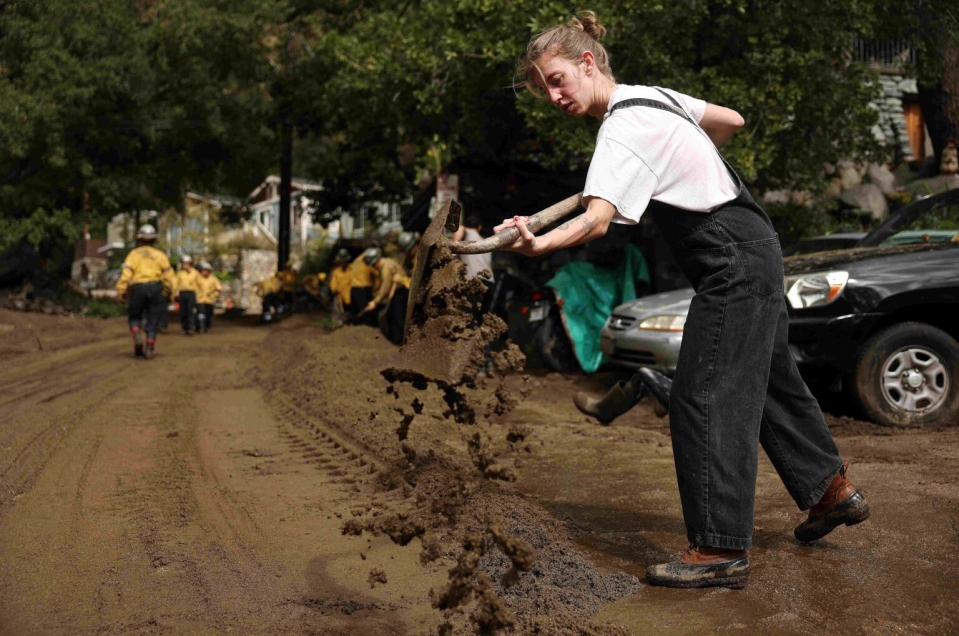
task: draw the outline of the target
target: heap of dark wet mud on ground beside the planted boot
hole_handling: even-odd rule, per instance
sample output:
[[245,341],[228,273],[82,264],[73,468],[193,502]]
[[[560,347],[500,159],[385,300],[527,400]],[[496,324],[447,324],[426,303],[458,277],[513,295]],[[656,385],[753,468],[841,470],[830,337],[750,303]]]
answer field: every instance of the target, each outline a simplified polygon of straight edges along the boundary
[[[600,605],[634,594],[639,581],[603,574],[576,549],[562,524],[515,495],[484,492],[466,506],[447,586],[433,596],[450,633],[620,634],[591,620]],[[472,606],[468,602],[472,594]]]

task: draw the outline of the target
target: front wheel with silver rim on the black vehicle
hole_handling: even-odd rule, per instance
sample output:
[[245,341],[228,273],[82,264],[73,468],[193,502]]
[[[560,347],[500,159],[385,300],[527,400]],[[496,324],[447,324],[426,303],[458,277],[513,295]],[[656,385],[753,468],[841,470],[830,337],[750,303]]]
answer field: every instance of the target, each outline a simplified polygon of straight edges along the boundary
[[959,343],[941,329],[905,322],[863,345],[853,376],[859,405],[877,424],[924,426],[959,415]]

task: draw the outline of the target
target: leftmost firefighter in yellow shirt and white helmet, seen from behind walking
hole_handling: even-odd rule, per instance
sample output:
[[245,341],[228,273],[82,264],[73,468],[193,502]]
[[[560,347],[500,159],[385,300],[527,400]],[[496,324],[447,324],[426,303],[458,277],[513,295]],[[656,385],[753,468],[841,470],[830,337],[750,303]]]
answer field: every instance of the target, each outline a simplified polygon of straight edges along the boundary
[[156,238],[156,228],[152,225],[146,224],[137,230],[137,247],[123,261],[117,283],[117,295],[127,302],[133,353],[147,360],[153,357],[160,316],[166,311],[167,298],[173,295],[176,284],[170,259],[153,247]]

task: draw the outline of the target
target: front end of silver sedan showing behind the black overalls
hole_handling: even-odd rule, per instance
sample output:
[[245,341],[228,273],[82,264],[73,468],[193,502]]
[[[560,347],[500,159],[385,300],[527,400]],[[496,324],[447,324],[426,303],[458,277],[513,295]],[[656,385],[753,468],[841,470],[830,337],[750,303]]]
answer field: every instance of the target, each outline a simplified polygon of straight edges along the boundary
[[600,335],[607,361],[672,375],[693,294],[691,288],[677,289],[637,298],[614,309]]

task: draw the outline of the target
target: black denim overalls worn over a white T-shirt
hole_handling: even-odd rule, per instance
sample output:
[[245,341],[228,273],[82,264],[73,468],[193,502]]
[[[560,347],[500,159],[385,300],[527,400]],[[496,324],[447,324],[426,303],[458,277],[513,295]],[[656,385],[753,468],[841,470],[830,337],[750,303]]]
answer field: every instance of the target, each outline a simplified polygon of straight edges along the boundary
[[[665,110],[705,135],[663,95],[674,107],[628,99],[612,110]],[[779,238],[723,163],[739,184],[733,201],[708,214],[651,201],[647,213],[696,291],[669,406],[687,537],[697,546],[746,550],[759,444],[801,510],[818,503],[842,460],[789,352]]]

